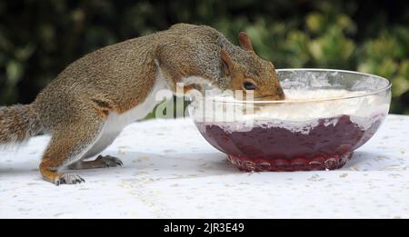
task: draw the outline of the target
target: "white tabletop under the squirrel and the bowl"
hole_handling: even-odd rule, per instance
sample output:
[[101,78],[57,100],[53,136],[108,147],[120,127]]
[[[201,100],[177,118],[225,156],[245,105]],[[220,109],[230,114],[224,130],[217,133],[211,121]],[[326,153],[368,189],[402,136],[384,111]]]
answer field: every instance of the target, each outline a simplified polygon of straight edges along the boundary
[[48,140],[0,153],[0,217],[409,217],[409,116],[389,115],[330,172],[242,173],[190,119],[149,120],[105,150],[124,167],[78,171],[86,183],[55,186],[38,172]]

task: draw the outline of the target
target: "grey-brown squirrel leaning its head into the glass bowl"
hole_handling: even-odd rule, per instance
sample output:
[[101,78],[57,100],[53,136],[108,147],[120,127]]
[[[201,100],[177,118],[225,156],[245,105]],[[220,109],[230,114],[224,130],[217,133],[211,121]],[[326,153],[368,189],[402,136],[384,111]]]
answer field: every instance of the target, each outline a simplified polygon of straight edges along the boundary
[[211,83],[220,90],[252,91],[255,99],[284,98],[274,64],[254,53],[245,33],[240,46],[210,26],[177,24],[126,40],[76,60],[32,104],[0,107],[0,145],[22,143],[37,133],[51,141],[40,163],[46,181],[84,182],[66,169],[122,165],[99,155],[123,128],[155,107],[155,93],[177,83],[185,91]]

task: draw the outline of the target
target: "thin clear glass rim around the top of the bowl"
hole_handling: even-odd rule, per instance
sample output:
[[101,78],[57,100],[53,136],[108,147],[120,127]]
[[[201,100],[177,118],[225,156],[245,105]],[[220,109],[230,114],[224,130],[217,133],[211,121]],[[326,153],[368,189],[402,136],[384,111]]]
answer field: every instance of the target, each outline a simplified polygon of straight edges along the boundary
[[364,97],[367,95],[372,95],[372,94],[378,94],[384,91],[389,90],[392,87],[392,82],[390,82],[388,79],[375,75],[375,74],[366,74],[366,73],[360,73],[360,72],[355,72],[355,71],[349,71],[349,70],[338,70],[338,69],[325,69],[325,68],[281,68],[281,69],[276,69],[275,70],[277,73],[280,71],[318,71],[318,72],[336,72],[336,73],[345,73],[345,74],[361,74],[361,75],[366,75],[366,76],[372,76],[375,78],[378,78],[380,80],[383,80],[387,82],[387,85],[373,90],[369,92],[365,92],[362,94],[353,94],[353,95],[343,95],[343,96],[337,96],[337,97],[328,97],[328,98],[320,98],[320,99],[307,99],[307,100],[277,100],[277,101],[239,101],[239,100],[223,100],[223,99],[217,99],[217,98],[209,98],[209,97],[203,97],[205,100],[210,100],[214,102],[220,102],[220,103],[232,103],[232,104],[303,104],[303,103],[311,103],[311,102],[325,102],[325,101],[335,101],[335,100],[342,100],[342,99],[352,99],[352,98],[359,98],[359,97]]

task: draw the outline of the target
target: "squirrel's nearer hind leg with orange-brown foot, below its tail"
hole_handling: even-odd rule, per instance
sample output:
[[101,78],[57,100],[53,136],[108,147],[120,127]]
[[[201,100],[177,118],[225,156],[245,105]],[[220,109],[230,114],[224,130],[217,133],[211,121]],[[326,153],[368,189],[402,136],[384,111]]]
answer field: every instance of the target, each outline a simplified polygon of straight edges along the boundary
[[92,121],[75,123],[75,126],[64,126],[53,133],[40,163],[40,173],[46,181],[56,185],[84,182],[84,179],[75,173],[59,171],[82,159],[98,140],[105,121],[101,117],[94,118]]

